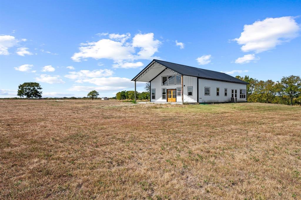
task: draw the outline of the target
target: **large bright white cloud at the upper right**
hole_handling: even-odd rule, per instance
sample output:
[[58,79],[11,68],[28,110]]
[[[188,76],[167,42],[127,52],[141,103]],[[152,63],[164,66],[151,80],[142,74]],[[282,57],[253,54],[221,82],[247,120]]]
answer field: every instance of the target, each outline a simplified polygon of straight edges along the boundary
[[300,25],[294,17],[266,18],[250,25],[244,25],[244,32],[235,38],[238,44],[243,45],[244,52],[260,53],[275,48],[283,42],[289,42],[298,36]]

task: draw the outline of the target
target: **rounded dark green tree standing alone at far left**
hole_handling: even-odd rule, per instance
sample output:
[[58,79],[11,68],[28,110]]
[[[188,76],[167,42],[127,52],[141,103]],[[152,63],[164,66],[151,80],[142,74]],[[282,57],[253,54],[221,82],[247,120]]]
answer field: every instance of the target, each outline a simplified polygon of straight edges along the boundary
[[41,98],[42,97],[41,85],[36,82],[25,82],[20,84],[18,87],[18,96],[30,98]]

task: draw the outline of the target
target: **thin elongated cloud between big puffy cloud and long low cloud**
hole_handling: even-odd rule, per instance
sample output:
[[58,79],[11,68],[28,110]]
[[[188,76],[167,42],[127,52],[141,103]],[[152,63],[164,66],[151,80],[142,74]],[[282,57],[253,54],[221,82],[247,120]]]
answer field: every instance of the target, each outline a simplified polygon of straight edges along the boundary
[[82,78],[97,78],[104,76],[113,75],[113,71],[110,69],[97,69],[97,70],[80,70],[78,72],[69,72],[69,74],[65,75],[66,78],[70,79],[82,79]]

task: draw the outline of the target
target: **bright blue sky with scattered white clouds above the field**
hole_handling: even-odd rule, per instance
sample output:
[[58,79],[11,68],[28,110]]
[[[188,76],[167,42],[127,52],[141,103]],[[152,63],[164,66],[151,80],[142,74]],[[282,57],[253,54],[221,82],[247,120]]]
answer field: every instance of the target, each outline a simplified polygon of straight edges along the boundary
[[43,97],[113,97],[154,58],[260,80],[301,75],[300,16],[301,1],[1,1],[0,97],[23,82]]

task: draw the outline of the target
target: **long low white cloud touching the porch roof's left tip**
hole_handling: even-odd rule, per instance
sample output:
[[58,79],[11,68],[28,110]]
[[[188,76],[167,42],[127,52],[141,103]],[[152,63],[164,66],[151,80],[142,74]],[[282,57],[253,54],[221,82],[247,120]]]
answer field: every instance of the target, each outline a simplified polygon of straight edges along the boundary
[[133,82],[129,78],[120,77],[102,77],[78,80],[79,83],[92,83],[97,86],[81,86],[76,85],[70,88],[70,91],[120,91],[126,88],[132,88]]

